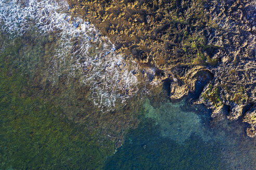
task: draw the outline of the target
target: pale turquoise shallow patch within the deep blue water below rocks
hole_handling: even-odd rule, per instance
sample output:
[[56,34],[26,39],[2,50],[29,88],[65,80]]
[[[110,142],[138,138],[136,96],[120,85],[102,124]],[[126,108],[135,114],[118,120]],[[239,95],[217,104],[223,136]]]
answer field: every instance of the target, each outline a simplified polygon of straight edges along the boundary
[[192,134],[200,136],[203,141],[210,139],[211,133],[207,132],[201,118],[193,111],[184,111],[185,101],[176,104],[164,103],[155,108],[146,100],[143,105],[145,117],[151,118],[159,125],[162,137],[169,137],[183,144]]

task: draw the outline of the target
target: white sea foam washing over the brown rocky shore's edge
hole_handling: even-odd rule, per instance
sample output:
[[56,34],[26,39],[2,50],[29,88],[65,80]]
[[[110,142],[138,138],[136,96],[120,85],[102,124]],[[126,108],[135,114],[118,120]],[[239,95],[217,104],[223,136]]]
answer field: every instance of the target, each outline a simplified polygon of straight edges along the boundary
[[28,31],[54,33],[57,38],[47,77],[53,83],[62,75],[79,77],[91,87],[95,105],[112,109],[118,100],[125,102],[137,92],[137,78],[130,71],[136,63],[125,62],[107,37],[81,18],[72,18],[68,9],[63,1],[2,0],[0,28],[12,37]]

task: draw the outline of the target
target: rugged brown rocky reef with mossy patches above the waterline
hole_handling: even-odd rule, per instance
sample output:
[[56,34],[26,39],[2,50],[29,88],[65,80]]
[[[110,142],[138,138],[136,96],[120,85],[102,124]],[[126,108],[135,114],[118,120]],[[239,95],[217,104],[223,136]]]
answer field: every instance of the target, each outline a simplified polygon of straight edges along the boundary
[[256,135],[255,1],[68,3],[73,17],[94,24],[126,61],[139,64],[137,77],[167,83],[171,100],[193,94],[213,119],[239,119]]

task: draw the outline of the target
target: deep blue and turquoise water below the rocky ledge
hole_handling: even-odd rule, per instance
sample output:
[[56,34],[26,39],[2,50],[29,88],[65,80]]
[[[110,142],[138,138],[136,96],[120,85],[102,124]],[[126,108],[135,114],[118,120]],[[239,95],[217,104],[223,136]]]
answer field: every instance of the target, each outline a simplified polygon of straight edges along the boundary
[[255,140],[237,122],[212,124],[210,114],[185,100],[155,108],[146,100],[142,122],[105,169],[254,169]]

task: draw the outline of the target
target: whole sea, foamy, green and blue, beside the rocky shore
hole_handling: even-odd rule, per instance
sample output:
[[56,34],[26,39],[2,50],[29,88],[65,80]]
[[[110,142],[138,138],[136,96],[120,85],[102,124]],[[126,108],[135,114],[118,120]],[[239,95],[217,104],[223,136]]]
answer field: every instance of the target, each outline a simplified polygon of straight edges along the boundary
[[[71,17],[65,1],[0,1],[0,23],[0,169],[255,169],[245,124],[214,122],[203,105],[171,103],[164,89],[153,100],[160,93],[133,74],[137,63]],[[83,110],[100,110],[97,121],[134,101],[139,124],[122,130],[124,143],[114,148],[102,127],[70,116],[81,106],[55,98],[53,87],[80,96]]]

